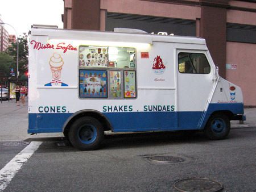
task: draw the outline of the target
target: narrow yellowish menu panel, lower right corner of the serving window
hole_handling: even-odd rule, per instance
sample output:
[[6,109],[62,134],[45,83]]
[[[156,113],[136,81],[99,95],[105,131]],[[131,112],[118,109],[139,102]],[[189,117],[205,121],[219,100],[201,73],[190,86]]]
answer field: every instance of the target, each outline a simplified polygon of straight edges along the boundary
[[123,72],[124,84],[125,84],[125,98],[136,97],[136,73],[135,71],[125,70]]

